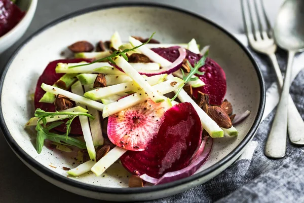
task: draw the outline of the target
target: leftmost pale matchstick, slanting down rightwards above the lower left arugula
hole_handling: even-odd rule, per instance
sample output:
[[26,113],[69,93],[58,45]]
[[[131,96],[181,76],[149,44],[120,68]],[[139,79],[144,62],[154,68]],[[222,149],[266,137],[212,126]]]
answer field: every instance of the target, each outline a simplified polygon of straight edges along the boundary
[[93,101],[93,100],[88,99],[88,98],[86,98],[84,96],[80,96],[78,94],[74,94],[72,92],[60,89],[58,87],[53,87],[51,85],[47,85],[45,83],[42,83],[41,88],[43,90],[45,90],[46,92],[51,92],[51,93],[53,93],[55,95],[61,94],[63,96],[66,96],[66,97],[70,98],[71,100],[73,100],[73,101],[75,101],[77,103],[80,103],[82,105],[86,105],[86,106],[92,107],[94,109],[97,109],[98,111],[102,111],[103,107],[104,107],[103,104],[101,104],[101,103],[99,103],[97,101]]

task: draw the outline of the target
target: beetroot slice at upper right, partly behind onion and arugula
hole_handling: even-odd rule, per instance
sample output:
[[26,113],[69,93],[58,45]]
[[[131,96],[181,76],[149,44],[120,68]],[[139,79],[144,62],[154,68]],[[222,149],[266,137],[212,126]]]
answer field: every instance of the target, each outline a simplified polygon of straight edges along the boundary
[[[178,46],[168,48],[153,48],[154,52],[167,60],[173,62],[179,56]],[[200,54],[195,54],[186,50],[186,59],[194,65],[195,61],[201,59]],[[212,59],[207,58],[205,65],[200,67],[201,72],[205,72],[203,76],[197,75],[206,85],[193,89],[193,94],[197,97],[198,91],[209,94],[209,103],[211,105],[220,105],[226,94],[226,76],[222,68]]]

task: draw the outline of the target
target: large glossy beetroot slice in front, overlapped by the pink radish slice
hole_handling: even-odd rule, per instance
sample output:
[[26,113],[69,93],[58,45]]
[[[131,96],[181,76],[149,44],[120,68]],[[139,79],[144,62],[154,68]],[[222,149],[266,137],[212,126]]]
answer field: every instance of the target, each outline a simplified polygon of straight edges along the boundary
[[164,122],[147,149],[128,151],[121,162],[134,175],[160,178],[190,163],[201,144],[201,134],[201,121],[193,106],[190,103],[175,105],[164,114]]

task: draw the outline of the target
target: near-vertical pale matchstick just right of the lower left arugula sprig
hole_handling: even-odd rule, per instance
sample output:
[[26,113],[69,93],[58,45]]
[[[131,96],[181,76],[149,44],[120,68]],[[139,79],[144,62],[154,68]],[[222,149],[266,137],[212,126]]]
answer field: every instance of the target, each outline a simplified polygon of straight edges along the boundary
[[[72,91],[72,93],[78,94],[78,95],[84,94],[83,86],[81,85],[81,83],[79,81],[75,82],[71,86],[71,91]],[[85,108],[85,106],[83,106],[83,108]],[[89,124],[89,118],[86,116],[79,116],[79,120],[80,120],[80,124],[81,124],[81,129],[84,134],[84,139],[86,142],[86,146],[87,146],[87,150],[88,150],[90,159],[92,161],[95,161],[96,160],[96,151],[95,151],[95,147],[93,144],[92,133],[91,133],[90,124]]]

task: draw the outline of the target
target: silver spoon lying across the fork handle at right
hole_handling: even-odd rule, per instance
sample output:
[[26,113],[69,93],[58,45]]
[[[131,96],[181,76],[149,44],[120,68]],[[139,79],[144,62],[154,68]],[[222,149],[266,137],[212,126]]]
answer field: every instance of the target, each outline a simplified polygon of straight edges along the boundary
[[[288,62],[281,98],[277,108],[277,114],[275,116],[264,151],[266,156],[272,158],[282,158],[285,156],[286,152],[287,106],[291,67],[295,53],[304,51],[303,20],[304,1],[287,0],[284,2],[279,11],[274,27],[275,41],[278,46],[288,51]],[[288,115],[288,117],[294,117],[294,115]],[[302,118],[295,117],[294,119],[299,120]],[[294,123],[288,122],[290,141],[295,144],[302,144],[303,140],[301,137],[304,137],[304,129],[299,126],[295,126]],[[301,123],[300,120],[299,123]],[[274,140],[276,140],[276,142],[273,142]]]

